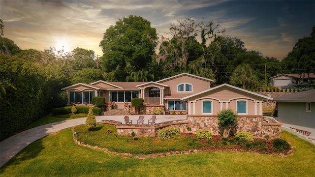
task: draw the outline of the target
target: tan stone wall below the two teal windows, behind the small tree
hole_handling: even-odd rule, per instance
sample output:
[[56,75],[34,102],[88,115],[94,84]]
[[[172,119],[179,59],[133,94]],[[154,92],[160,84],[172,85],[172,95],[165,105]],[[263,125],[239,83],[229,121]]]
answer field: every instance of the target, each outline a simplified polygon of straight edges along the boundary
[[[222,128],[219,126],[218,118],[204,116],[188,116],[191,133],[197,130],[208,129],[214,135],[221,135]],[[231,130],[231,134],[235,132],[250,132],[254,138],[264,138],[269,135],[270,139],[281,138],[281,123],[262,123],[262,117],[238,117],[237,126]]]

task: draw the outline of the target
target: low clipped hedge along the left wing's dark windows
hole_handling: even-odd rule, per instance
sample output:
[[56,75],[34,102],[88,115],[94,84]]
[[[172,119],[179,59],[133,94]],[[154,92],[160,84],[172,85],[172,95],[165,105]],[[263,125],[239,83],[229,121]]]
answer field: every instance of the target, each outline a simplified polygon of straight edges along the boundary
[[[66,106],[63,108],[54,108],[52,113],[53,115],[64,115],[64,114],[70,114],[71,113],[72,106]],[[77,113],[89,113],[89,106],[75,106],[77,109]],[[102,110],[100,108],[93,107],[93,114],[94,115],[101,115]]]

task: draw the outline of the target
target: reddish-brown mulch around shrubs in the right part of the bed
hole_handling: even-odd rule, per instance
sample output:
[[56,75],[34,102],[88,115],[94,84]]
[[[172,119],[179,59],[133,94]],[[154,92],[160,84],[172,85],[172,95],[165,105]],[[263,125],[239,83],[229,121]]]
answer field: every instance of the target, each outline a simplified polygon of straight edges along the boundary
[[[195,134],[187,134],[187,133],[182,133],[182,136],[190,136],[190,137],[195,137]],[[293,153],[293,148],[291,150],[284,150],[282,152],[275,151],[275,148],[272,145],[272,140],[268,140],[267,143],[267,151],[261,150],[261,149],[248,149],[248,148],[243,148],[239,145],[232,145],[232,146],[223,146],[221,144],[221,139],[222,137],[219,135],[213,135],[211,142],[213,143],[218,143],[220,146],[211,146],[211,147],[203,147],[199,148],[198,151],[233,151],[233,152],[252,152],[252,153],[259,153],[259,154],[269,154],[269,155],[278,155],[278,156],[286,156],[290,155]],[[205,144],[207,139],[199,139],[199,141],[202,144]],[[262,139],[254,139],[254,141],[261,141],[263,143],[266,143],[266,140]]]

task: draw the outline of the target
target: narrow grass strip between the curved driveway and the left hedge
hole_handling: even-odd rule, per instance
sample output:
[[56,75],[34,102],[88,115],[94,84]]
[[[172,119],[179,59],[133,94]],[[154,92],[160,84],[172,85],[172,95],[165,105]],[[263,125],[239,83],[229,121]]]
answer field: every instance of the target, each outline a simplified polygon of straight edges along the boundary
[[46,115],[42,118],[39,118],[35,121],[33,121],[29,126],[27,126],[24,130],[30,129],[30,128],[34,128],[40,125],[45,125],[48,123],[53,123],[53,122],[58,122],[58,121],[63,121],[63,120],[69,120],[69,119],[74,119],[74,118],[85,118],[87,117],[88,114],[84,114],[84,113],[78,113],[78,114],[66,114],[66,115],[56,115],[53,116],[52,114]]

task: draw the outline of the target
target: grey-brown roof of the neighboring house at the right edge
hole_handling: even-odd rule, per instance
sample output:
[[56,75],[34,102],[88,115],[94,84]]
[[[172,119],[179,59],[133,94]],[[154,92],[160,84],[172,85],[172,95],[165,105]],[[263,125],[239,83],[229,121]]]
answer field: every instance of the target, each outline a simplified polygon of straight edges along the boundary
[[315,89],[277,96],[273,101],[278,102],[315,102]]

